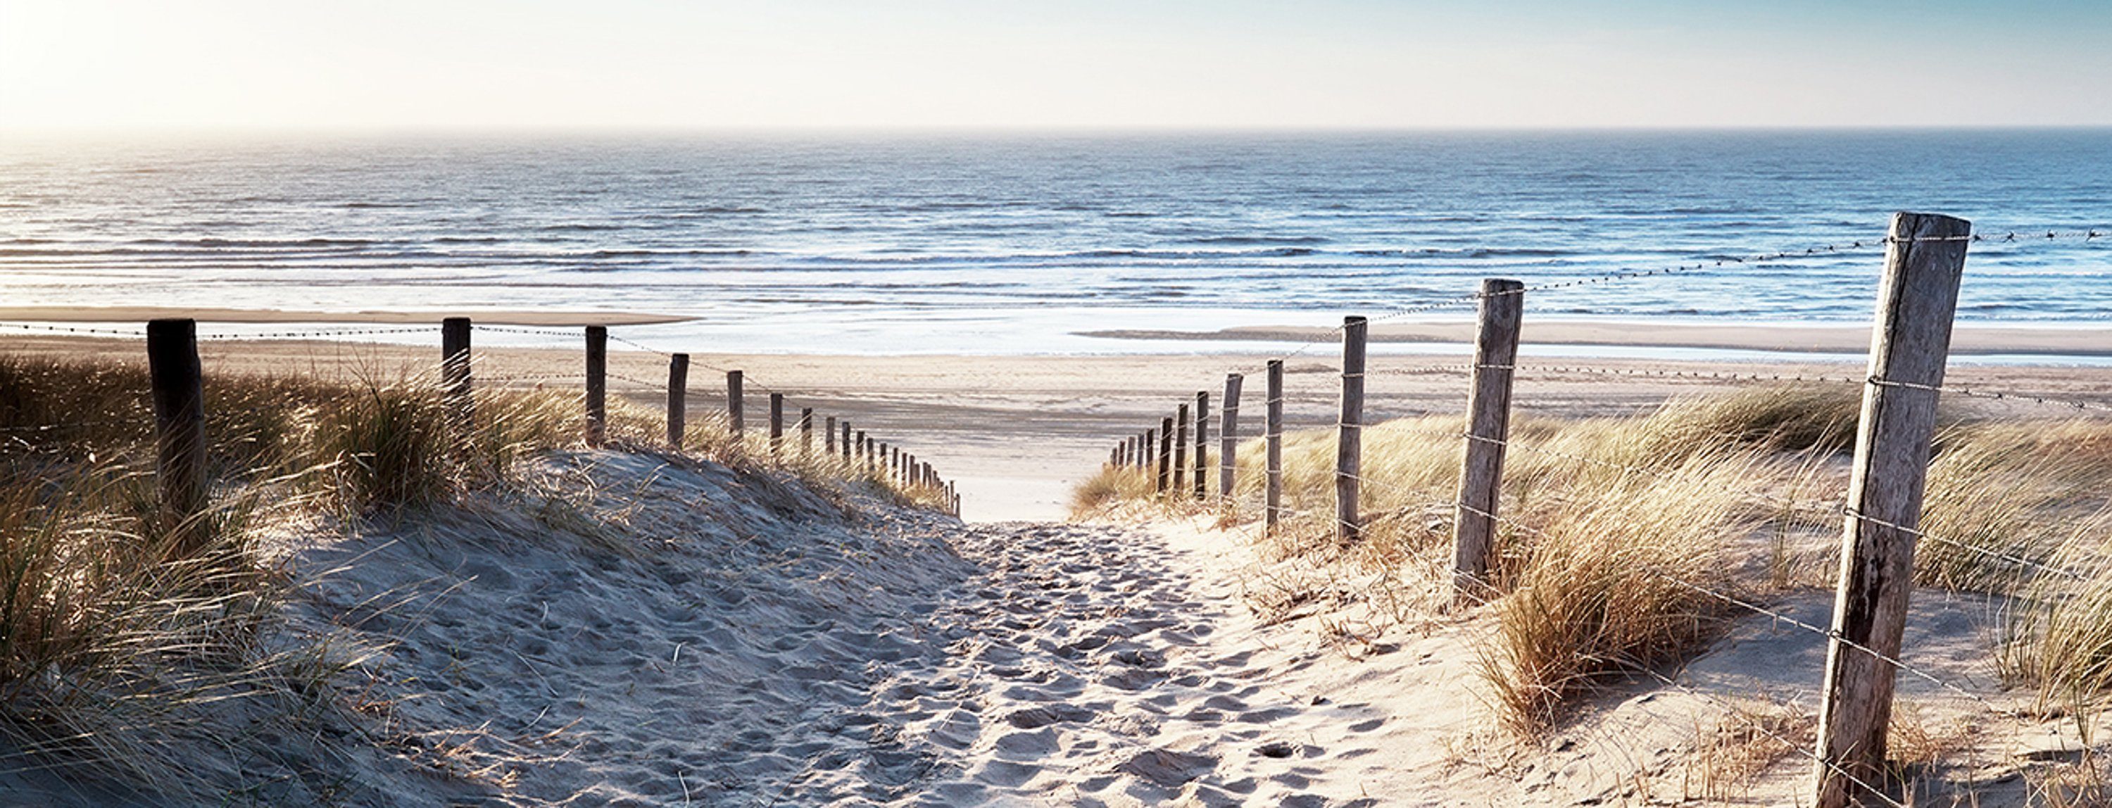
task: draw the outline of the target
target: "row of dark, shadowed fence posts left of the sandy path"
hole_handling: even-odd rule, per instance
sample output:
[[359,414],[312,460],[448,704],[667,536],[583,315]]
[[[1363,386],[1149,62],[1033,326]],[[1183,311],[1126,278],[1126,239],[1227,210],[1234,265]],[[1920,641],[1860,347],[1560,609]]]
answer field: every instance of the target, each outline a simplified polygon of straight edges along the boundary
[[[467,316],[450,316],[439,325],[439,371],[446,420],[458,441],[467,439],[477,422],[475,397],[471,395],[471,335]],[[148,378],[154,401],[156,437],[156,483],[165,513],[177,519],[177,553],[196,551],[188,532],[207,506],[207,445],[205,445],[205,373],[199,361],[199,323],[190,319],[161,319],[146,325]],[[727,371],[727,428],[739,443],[743,432],[743,390],[741,371]],[[608,327],[587,327],[587,430],[591,447],[608,443]],[[667,357],[667,447],[680,451],[689,416],[689,354]],[[786,454],[786,409],[784,392],[771,392],[771,458]],[[813,407],[798,411],[798,454],[813,458]],[[828,416],[824,458],[834,458],[845,468],[868,475],[885,475],[902,487],[925,487],[940,496],[948,515],[961,515],[961,494],[929,462],[919,460],[902,447],[887,445],[866,430],[853,430],[849,418]]]

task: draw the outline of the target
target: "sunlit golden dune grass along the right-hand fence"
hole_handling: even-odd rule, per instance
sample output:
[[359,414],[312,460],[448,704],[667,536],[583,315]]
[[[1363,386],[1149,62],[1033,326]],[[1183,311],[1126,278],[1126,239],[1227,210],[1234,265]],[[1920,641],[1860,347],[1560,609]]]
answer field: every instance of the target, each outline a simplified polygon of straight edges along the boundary
[[[1753,386],[1673,399],[1637,418],[1514,418],[1504,523],[1491,557],[1495,622],[1481,650],[1500,715],[1521,736],[1639,669],[1687,660],[1745,616],[1728,599],[1825,589],[1840,555],[1856,386]],[[2112,424],[1985,420],[1945,409],[1930,462],[1916,580],[2015,597],[2004,671],[2044,694],[2112,694]],[[1451,519],[1459,418],[1402,418],[1364,430],[1364,536],[1335,542],[1335,432],[1284,435],[1290,517],[1263,561],[1350,567],[1356,597],[1451,610]],[[1240,447],[1238,500],[1252,519],[1261,441]],[[1151,496],[1149,477],[1105,470],[1081,511],[1193,508]],[[2021,561],[2021,563],[2019,563]],[[2076,567],[2089,576],[2044,574]],[[1303,586],[1339,589],[1345,576]],[[1274,582],[1274,589],[1301,586]],[[1274,599],[1307,599],[1257,586]],[[1409,591],[1404,597],[1402,591]]]

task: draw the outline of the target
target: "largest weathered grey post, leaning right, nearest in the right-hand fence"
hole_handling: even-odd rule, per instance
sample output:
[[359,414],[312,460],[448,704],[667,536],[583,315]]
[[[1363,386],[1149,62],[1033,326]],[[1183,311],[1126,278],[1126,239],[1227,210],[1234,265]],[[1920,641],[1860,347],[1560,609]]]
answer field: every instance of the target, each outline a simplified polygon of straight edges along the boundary
[[1869,787],[1882,787],[1884,734],[1899,675],[1888,658],[1899,658],[1913,593],[1913,542],[1937,430],[1937,390],[1949,359],[1970,234],[1966,219],[1894,213],[1886,238],[1818,707],[1818,808],[1880,797]]

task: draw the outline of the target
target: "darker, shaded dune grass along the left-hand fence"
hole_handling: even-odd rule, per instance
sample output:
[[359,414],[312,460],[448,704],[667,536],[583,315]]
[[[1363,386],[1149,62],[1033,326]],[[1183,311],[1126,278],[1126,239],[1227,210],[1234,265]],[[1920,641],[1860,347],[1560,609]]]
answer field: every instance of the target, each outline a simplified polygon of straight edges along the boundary
[[[414,373],[207,376],[211,506],[161,513],[146,369],[0,357],[0,738],[25,766],[68,766],[211,800],[194,757],[215,722],[332,711],[361,658],[264,627],[291,582],[260,546],[287,519],[403,519],[526,485],[522,460],[579,447],[577,390],[477,390],[467,435]],[[610,445],[661,451],[655,409],[610,401]],[[832,458],[773,460],[705,418],[686,460],[769,485],[857,487],[938,506]],[[826,483],[826,485],[824,485]],[[171,536],[203,551],[173,553]],[[247,707],[245,707],[247,705]],[[205,732],[201,736],[201,732]]]

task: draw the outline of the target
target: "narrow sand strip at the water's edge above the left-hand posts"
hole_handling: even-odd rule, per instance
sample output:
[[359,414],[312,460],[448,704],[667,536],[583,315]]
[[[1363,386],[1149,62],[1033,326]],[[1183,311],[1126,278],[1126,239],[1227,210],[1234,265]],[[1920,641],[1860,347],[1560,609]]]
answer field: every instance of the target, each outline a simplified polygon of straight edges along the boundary
[[653,314],[653,312],[581,312],[581,310],[361,310],[321,312],[294,308],[194,308],[194,306],[0,306],[0,321],[34,323],[146,323],[156,319],[188,316],[203,323],[386,323],[386,325],[437,325],[448,316],[471,316],[486,325],[657,325],[684,323],[695,316]]

